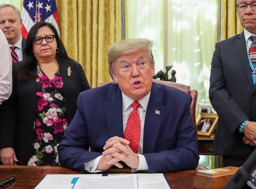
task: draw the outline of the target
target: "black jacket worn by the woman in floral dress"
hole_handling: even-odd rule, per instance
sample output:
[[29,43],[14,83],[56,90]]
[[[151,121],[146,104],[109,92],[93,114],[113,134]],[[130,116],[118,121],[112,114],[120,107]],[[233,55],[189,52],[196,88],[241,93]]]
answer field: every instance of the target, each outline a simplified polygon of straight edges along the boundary
[[[23,82],[17,78],[18,67],[13,64],[13,90],[10,98],[0,107],[0,148],[13,147],[16,157],[28,161],[32,154],[34,121],[36,112],[36,78]],[[71,68],[68,76],[67,69]],[[64,104],[67,122],[76,113],[76,100],[80,92],[89,89],[83,68],[76,62],[61,62],[60,75],[63,82]]]

